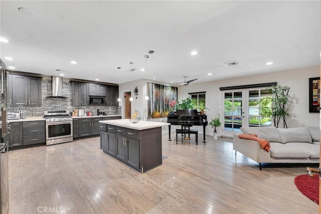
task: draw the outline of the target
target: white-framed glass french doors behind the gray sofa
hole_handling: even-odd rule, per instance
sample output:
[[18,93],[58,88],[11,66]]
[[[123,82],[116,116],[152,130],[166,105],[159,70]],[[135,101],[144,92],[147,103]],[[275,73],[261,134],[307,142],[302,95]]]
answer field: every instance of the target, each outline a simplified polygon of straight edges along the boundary
[[222,135],[241,132],[242,126],[271,126],[271,94],[265,88],[222,91]]

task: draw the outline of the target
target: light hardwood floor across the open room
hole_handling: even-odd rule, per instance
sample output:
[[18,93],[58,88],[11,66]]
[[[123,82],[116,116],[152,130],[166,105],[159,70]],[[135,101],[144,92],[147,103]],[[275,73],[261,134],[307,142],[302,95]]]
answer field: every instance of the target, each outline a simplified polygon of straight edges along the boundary
[[144,174],[99,149],[99,137],[9,153],[9,213],[317,213],[294,177],[301,166],[258,164],[232,139],[176,145]]

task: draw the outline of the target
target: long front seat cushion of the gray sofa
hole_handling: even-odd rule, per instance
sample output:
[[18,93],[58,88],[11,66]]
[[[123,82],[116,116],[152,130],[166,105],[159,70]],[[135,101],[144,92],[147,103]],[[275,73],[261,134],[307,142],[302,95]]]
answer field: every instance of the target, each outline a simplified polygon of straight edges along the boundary
[[311,143],[270,143],[272,158],[319,158],[320,151],[318,145]]

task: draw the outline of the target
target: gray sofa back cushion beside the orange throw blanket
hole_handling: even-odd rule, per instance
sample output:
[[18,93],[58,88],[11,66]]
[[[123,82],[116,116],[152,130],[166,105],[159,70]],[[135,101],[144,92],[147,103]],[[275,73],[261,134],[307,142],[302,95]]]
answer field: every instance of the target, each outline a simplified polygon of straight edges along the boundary
[[244,134],[255,134],[268,142],[279,142],[281,138],[275,127],[241,127]]

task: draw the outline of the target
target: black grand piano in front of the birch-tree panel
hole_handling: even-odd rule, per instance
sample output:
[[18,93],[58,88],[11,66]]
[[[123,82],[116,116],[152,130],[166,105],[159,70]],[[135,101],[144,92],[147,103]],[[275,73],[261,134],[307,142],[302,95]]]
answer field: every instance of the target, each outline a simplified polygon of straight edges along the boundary
[[[167,123],[183,127],[203,126],[203,142],[205,142],[205,127],[207,126],[207,116],[198,114],[197,110],[183,109],[171,112],[167,117]],[[171,125],[169,125],[169,141],[171,141]]]

